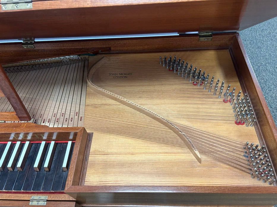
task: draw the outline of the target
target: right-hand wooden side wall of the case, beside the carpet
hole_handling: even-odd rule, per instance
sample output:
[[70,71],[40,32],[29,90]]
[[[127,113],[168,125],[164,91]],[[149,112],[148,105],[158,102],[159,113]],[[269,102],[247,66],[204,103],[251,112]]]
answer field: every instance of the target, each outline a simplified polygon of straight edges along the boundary
[[[251,104],[253,106],[256,120],[257,120],[257,133],[261,133],[260,142],[265,143],[267,151],[269,153],[269,157],[273,166],[277,166],[277,129],[276,125],[273,121],[273,118],[270,114],[268,106],[266,104],[265,98],[262,94],[262,90],[259,87],[259,83],[257,78],[253,72],[253,70],[248,70],[251,68],[251,64],[247,61],[247,54],[243,48],[243,44],[239,37],[239,34],[234,39],[234,43],[232,44],[232,55],[234,59],[236,59],[237,64],[236,67],[238,70],[238,77],[240,77],[240,81],[243,87],[246,89],[248,96],[251,100]],[[274,168],[273,168],[274,170]],[[276,169],[275,169],[276,171]]]

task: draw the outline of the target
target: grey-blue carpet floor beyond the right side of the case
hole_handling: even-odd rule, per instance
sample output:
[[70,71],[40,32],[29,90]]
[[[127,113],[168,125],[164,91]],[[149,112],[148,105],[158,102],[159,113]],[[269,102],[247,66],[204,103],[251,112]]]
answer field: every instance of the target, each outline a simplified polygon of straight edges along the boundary
[[239,34],[277,126],[277,17]]

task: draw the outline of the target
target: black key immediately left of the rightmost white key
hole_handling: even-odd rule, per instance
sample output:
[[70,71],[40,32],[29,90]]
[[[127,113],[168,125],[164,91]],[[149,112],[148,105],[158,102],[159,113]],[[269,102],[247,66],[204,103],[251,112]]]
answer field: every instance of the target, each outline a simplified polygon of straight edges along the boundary
[[[56,175],[55,175],[54,182],[53,182],[53,187],[52,187],[53,191],[61,191],[61,188],[62,188],[62,185],[63,185],[63,182],[64,182],[64,176],[67,175],[67,171],[63,171],[62,166],[64,164],[64,158],[66,158],[66,156],[67,156],[67,151],[70,150],[70,149],[68,150],[68,147],[70,148],[70,145],[73,146],[72,142],[70,142],[70,145],[68,145],[68,144],[69,144],[69,142],[64,143],[63,149],[61,151],[60,160],[59,160],[59,163],[58,163]],[[71,156],[71,154],[69,156]]]

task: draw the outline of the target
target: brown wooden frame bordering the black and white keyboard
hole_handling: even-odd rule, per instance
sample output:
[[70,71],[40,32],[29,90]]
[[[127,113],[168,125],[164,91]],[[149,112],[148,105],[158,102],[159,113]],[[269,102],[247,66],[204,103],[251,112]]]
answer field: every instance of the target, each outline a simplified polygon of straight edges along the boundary
[[[12,137],[12,136],[13,137]],[[30,136],[30,137],[28,137]],[[68,179],[71,184],[80,184],[83,167],[86,166],[86,147],[88,133],[83,127],[47,127],[33,123],[1,123],[0,124],[0,140],[7,141],[75,141],[71,166],[69,168]],[[76,168],[76,169],[75,169]],[[75,176],[75,177],[74,177]],[[48,196],[46,206],[79,206],[75,203],[75,198],[62,192],[21,192],[21,191],[1,191],[0,206],[29,206],[32,195]],[[71,202],[74,201],[74,202]]]

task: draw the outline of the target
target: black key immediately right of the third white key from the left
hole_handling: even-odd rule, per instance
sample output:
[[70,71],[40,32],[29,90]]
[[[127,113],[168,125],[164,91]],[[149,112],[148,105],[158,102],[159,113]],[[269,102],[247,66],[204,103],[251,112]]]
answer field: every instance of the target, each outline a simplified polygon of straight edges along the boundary
[[[23,171],[19,172],[18,177],[17,177],[16,182],[15,182],[15,187],[14,187],[13,190],[22,190],[22,188],[23,188],[23,186],[26,182],[25,180],[26,180],[27,174],[28,174],[28,172],[31,168],[31,163],[34,160],[34,154],[37,151],[37,145],[38,145],[38,143],[31,143],[31,149],[30,149],[30,152],[29,152],[28,157],[26,159],[25,166],[23,168]],[[27,184],[31,185],[30,183],[27,183]]]

